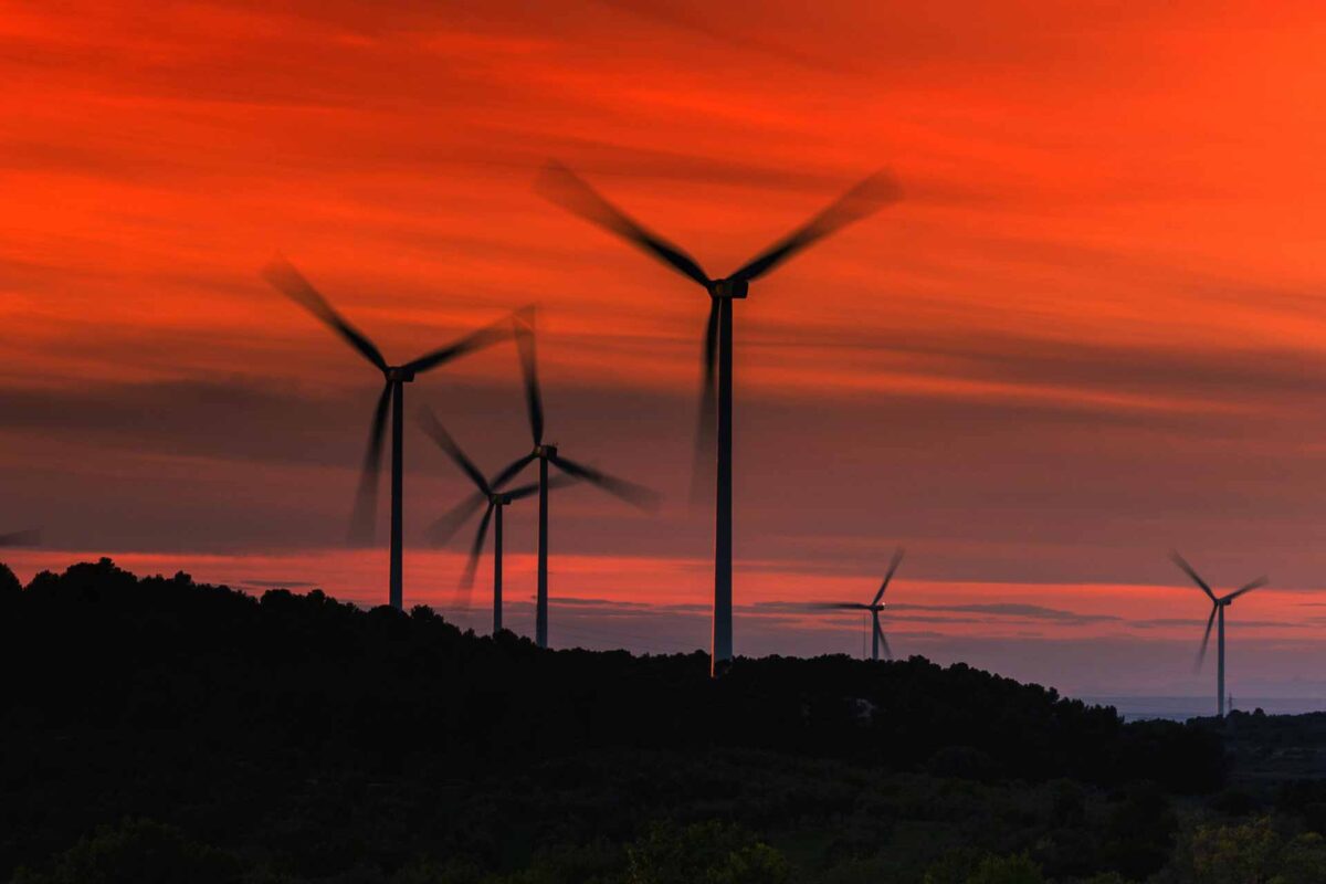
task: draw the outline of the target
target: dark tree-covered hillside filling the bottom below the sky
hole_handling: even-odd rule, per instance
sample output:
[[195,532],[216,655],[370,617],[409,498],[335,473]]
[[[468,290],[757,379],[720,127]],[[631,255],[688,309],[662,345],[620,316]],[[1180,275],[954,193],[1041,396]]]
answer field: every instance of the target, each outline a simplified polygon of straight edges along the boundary
[[549,652],[0,566],[0,879],[1326,881],[1326,717],[1123,724],[920,657]]

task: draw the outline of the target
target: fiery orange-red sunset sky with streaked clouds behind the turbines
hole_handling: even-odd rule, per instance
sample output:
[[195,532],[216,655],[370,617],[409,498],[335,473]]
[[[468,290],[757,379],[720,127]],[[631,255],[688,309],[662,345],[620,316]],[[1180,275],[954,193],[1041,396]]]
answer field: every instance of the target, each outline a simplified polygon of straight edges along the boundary
[[[0,3],[0,533],[23,579],[111,555],[386,600],[342,538],[381,375],[540,305],[548,437],[652,485],[552,502],[552,643],[708,647],[688,504],[707,300],[544,201],[557,158],[727,273],[853,182],[903,199],[736,305],[739,655],[896,653],[1063,691],[1205,693],[1167,561],[1272,583],[1236,696],[1326,696],[1326,11],[1223,3]],[[485,470],[514,349],[407,387]],[[483,628],[468,489],[406,439],[406,603]],[[386,498],[379,520],[385,537]],[[508,521],[532,632],[534,508]]]

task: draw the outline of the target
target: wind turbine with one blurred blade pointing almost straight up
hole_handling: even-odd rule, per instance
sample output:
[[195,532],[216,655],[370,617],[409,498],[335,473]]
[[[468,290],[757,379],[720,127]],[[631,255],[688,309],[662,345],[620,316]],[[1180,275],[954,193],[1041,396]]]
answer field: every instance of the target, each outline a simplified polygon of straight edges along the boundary
[[516,347],[520,351],[520,367],[525,380],[525,406],[529,412],[529,433],[533,439],[533,449],[507,465],[491,485],[501,489],[533,461],[538,461],[538,594],[534,606],[534,644],[541,648],[548,647],[548,492],[552,489],[548,478],[548,465],[552,464],[564,474],[581,478],[591,485],[602,488],[609,494],[625,500],[627,504],[642,509],[651,508],[658,501],[655,494],[643,485],[615,478],[599,472],[593,467],[585,467],[562,457],[557,445],[544,444],[544,398],[538,387],[538,367],[534,358],[534,326],[533,313],[521,311],[516,314]]

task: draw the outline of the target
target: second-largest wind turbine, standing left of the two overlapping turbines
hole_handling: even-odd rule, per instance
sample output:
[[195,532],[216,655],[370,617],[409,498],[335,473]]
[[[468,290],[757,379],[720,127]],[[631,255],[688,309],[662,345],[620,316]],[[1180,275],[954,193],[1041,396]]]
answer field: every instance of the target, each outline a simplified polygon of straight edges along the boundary
[[447,345],[432,353],[407,362],[400,366],[387,364],[382,351],[378,350],[363,333],[346,322],[339,313],[332,309],[313,285],[282,257],[276,257],[263,268],[263,278],[276,290],[306,309],[321,319],[333,331],[341,335],[346,343],[354,347],[359,355],[367,359],[374,368],[382,372],[386,386],[378,396],[378,406],[373,412],[373,423],[369,424],[369,452],[363,459],[363,472],[359,476],[359,492],[355,498],[354,516],[350,524],[353,539],[371,542],[374,509],[378,500],[378,470],[382,465],[382,435],[387,425],[387,408],[391,408],[391,571],[387,599],[391,607],[400,610],[404,604],[402,588],[402,485],[404,476],[404,457],[402,443],[404,386],[415,379],[415,375],[436,368],[480,347],[496,343],[511,334],[507,323],[493,323],[479,331],[460,338],[455,343]]

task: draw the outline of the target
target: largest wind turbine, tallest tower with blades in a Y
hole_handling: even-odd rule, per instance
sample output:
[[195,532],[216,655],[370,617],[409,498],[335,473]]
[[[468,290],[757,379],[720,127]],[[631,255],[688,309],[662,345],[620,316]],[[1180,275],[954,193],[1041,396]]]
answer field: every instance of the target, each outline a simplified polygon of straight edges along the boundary
[[717,280],[711,278],[684,250],[655,236],[609,203],[565,166],[550,163],[540,179],[540,190],[558,205],[663,261],[709,296],[697,448],[705,448],[713,439],[713,424],[717,421],[711,675],[721,675],[732,661],[732,302],[745,298],[751,282],[808,245],[898,199],[898,187],[883,172],[867,178],[736,273]]

